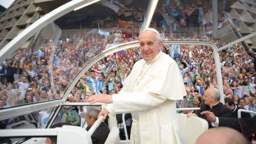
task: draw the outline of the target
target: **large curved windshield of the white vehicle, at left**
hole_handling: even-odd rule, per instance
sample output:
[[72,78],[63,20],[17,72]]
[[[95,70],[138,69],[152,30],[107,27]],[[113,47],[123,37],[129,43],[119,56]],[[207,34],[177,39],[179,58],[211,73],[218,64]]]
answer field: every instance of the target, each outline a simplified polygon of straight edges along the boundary
[[2,108],[61,99],[102,51],[138,39],[147,6],[148,1],[99,1],[45,26],[1,63]]

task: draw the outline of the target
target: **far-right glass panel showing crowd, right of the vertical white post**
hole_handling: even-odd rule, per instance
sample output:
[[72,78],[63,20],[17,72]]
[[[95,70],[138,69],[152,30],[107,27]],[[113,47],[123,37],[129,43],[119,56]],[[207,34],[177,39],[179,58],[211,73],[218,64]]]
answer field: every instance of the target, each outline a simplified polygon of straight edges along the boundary
[[[256,49],[253,41],[256,37],[232,45],[220,52],[223,88],[227,97],[239,104],[239,99],[245,99],[241,106],[256,111],[255,103],[255,57]],[[249,47],[245,49],[243,45]]]

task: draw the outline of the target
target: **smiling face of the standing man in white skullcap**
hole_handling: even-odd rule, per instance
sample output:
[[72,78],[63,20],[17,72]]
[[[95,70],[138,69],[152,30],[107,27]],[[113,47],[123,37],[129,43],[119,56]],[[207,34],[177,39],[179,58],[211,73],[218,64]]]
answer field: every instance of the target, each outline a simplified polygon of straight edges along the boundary
[[141,33],[139,42],[141,45],[142,56],[145,61],[152,61],[159,51],[161,51],[163,45],[163,42],[158,40],[157,34],[153,31],[144,31]]

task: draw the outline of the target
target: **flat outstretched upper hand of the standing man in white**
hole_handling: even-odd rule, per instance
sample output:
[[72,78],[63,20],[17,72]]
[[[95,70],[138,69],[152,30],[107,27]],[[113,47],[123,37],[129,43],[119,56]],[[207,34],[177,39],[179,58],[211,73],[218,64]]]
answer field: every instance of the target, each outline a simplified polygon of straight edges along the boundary
[[88,99],[86,99],[86,102],[90,102],[90,104],[95,104],[96,102],[103,102],[106,104],[111,104],[112,101],[112,95],[106,95],[103,93],[92,95]]

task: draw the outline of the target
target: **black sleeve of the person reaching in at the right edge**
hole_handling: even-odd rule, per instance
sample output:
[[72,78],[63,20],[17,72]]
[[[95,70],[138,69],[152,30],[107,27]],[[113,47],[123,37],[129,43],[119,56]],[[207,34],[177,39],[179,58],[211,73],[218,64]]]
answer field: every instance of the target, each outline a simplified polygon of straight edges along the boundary
[[253,118],[223,118],[218,117],[218,127],[237,129],[247,138],[256,134],[256,116]]

